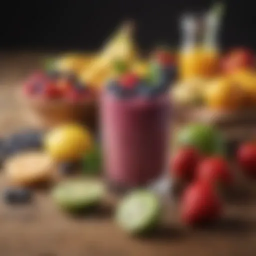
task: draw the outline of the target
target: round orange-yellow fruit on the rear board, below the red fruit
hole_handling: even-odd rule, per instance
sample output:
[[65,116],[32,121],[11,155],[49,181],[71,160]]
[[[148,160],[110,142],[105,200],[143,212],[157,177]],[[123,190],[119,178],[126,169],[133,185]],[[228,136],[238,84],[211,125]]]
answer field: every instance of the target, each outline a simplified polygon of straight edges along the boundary
[[217,77],[206,85],[207,106],[216,109],[235,109],[244,103],[244,91],[230,79]]

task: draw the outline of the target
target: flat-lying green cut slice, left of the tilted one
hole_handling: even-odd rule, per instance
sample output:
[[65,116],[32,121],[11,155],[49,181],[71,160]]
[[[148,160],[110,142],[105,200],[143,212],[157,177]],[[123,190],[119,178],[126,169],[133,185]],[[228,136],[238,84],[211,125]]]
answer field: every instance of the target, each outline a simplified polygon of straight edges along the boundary
[[103,184],[91,180],[70,180],[59,183],[52,198],[61,208],[78,211],[97,205],[104,194]]

